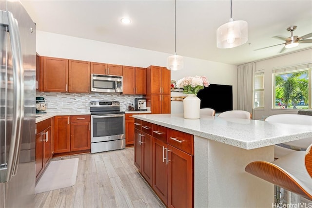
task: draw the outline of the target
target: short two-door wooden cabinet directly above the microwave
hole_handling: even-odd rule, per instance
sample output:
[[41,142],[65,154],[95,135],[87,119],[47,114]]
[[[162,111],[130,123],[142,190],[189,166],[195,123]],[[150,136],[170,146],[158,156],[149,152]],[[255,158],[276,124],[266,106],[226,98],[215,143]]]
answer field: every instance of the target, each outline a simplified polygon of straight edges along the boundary
[[116,64],[91,62],[91,73],[99,75],[122,76],[122,66]]

